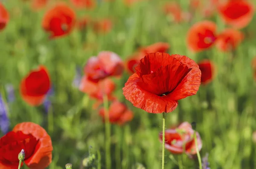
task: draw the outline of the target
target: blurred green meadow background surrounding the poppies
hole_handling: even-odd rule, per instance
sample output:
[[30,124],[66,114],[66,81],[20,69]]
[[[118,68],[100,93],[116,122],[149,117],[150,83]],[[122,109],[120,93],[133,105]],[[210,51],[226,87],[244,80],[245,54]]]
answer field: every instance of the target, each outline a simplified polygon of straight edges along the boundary
[[[36,1],[36,0],[35,0]],[[221,1],[221,0],[220,0]],[[75,84],[79,73],[91,56],[101,51],[118,54],[124,63],[140,46],[157,42],[169,43],[169,54],[181,54],[199,62],[209,59],[215,63],[215,76],[198,93],[179,101],[175,111],[167,114],[166,127],[183,121],[197,123],[203,148],[201,156],[209,153],[211,169],[255,169],[256,147],[256,82],[252,60],[256,56],[256,17],[240,31],[244,40],[233,51],[222,52],[215,46],[202,52],[192,52],[186,43],[191,26],[202,20],[212,20],[217,32],[228,27],[210,1],[201,0],[193,10],[189,0],[125,0],[94,1],[93,7],[77,8],[65,1],[76,13],[77,22],[84,18],[109,20],[96,31],[90,24],[74,27],[67,36],[49,39],[41,23],[49,8],[57,3],[48,0],[41,8],[33,0],[2,0],[9,12],[9,22],[0,32],[0,93],[7,107],[9,130],[17,123],[31,121],[47,130],[52,138],[53,159],[49,169],[63,169],[72,163],[81,169],[88,157],[89,147],[101,157],[105,168],[105,129],[99,108],[93,109],[95,99],[79,91]],[[166,3],[177,3],[183,14],[177,19],[166,14]],[[249,1],[255,7],[253,0]],[[210,14],[207,9],[212,9]],[[49,109],[44,105],[29,106],[20,97],[20,82],[32,69],[47,67],[52,84]],[[113,169],[160,169],[162,115],[137,109],[125,100],[122,87],[129,77],[113,78],[114,95],[134,112],[134,119],[123,126],[111,125],[111,160]],[[74,81],[75,80],[75,81]],[[13,87],[13,90],[12,90]],[[14,93],[12,93],[12,91]],[[4,133],[1,133],[3,136]],[[255,135],[255,134],[254,134]],[[181,157],[184,169],[198,167],[196,159],[187,155],[172,155],[166,151],[166,169],[177,169]]]

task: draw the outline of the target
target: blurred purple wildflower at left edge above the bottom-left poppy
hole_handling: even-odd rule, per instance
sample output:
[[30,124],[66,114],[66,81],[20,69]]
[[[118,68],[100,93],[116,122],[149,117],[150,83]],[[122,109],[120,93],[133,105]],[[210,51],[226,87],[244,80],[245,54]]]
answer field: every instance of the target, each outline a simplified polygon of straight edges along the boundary
[[6,134],[9,130],[10,120],[7,116],[6,105],[3,101],[2,95],[0,95],[0,129],[3,134]]

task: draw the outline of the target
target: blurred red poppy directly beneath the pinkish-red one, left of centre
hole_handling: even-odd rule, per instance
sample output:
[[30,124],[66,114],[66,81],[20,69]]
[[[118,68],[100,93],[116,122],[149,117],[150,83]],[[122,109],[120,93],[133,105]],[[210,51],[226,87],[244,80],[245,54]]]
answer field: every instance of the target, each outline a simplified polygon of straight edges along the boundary
[[96,99],[93,109],[96,109],[103,103],[104,95],[108,96],[108,100],[114,100],[115,97],[112,95],[114,89],[115,83],[109,78],[99,80],[99,82],[96,83],[88,79],[87,76],[83,76],[79,84],[79,90],[81,92],[84,92],[90,97]]

